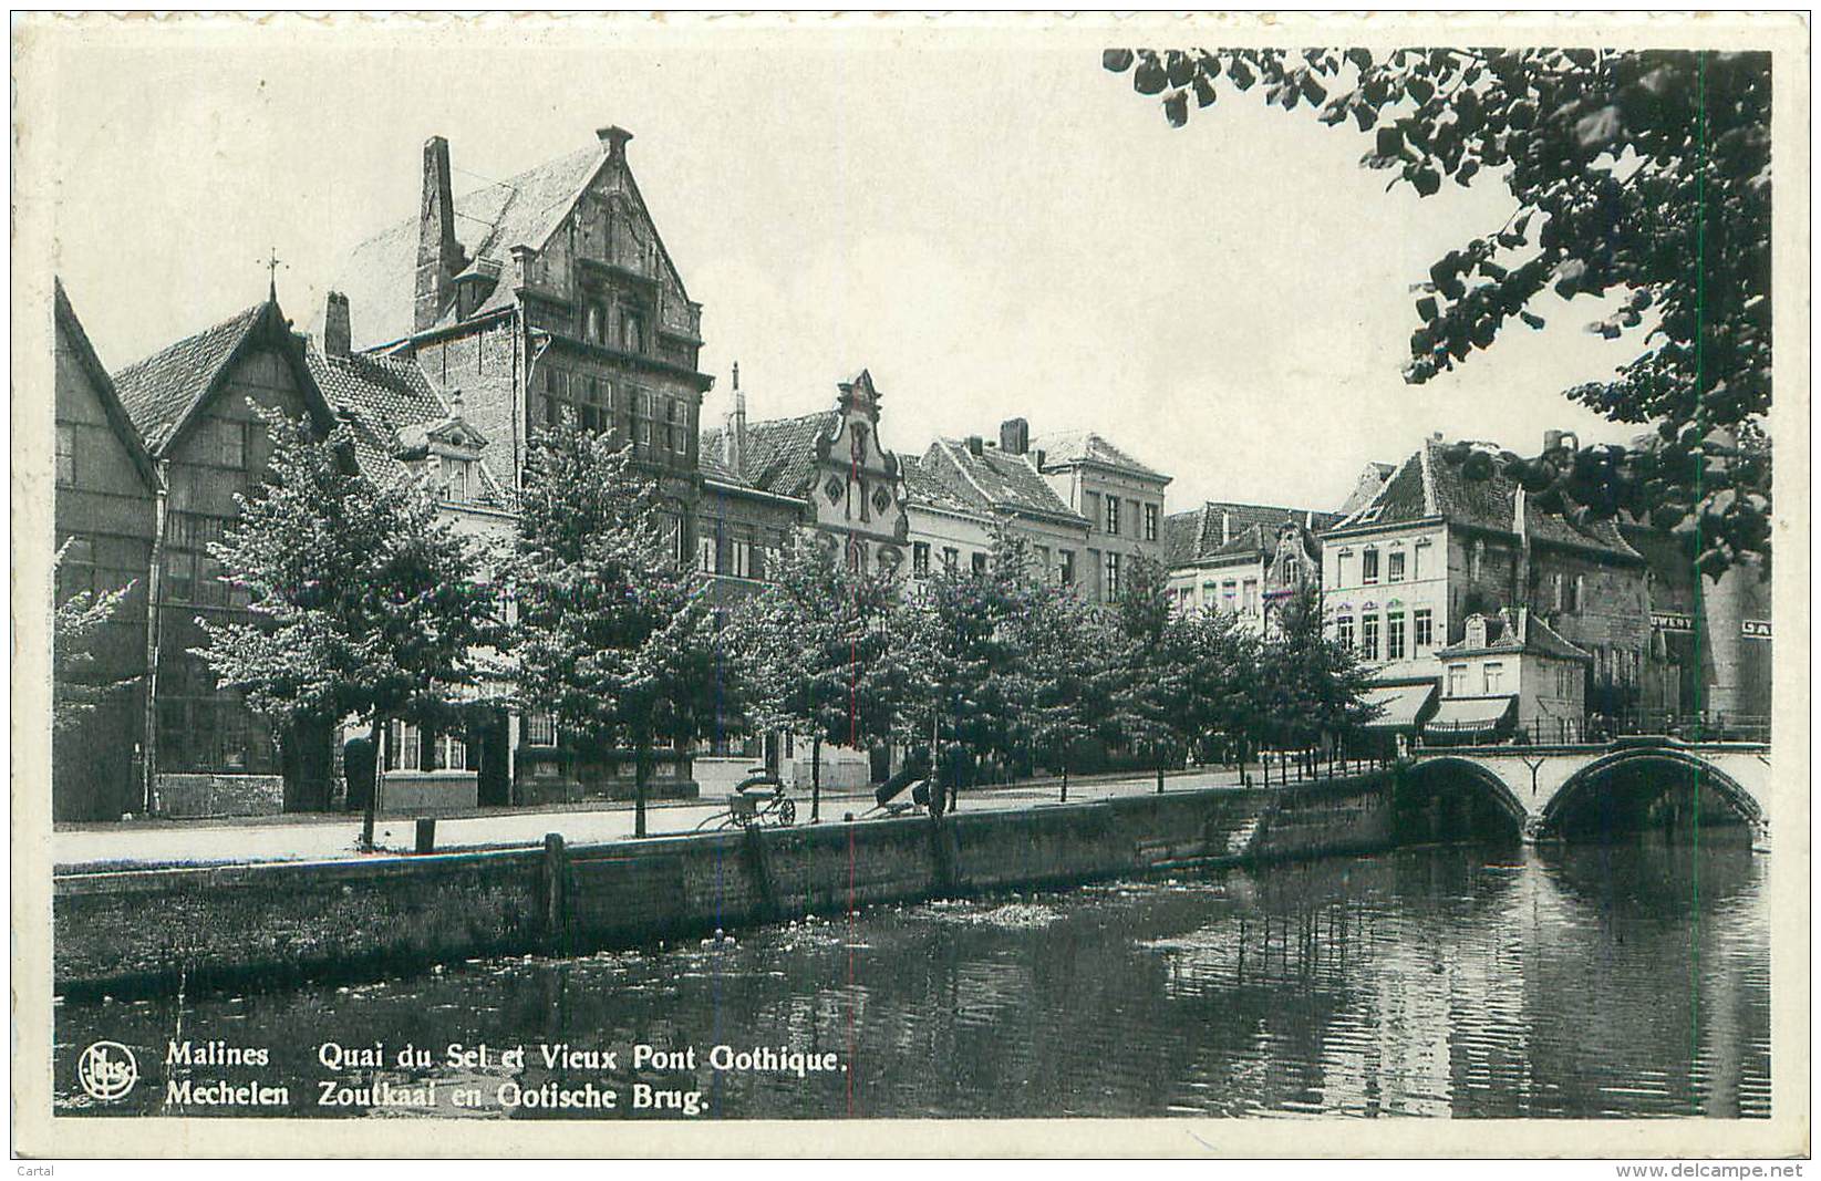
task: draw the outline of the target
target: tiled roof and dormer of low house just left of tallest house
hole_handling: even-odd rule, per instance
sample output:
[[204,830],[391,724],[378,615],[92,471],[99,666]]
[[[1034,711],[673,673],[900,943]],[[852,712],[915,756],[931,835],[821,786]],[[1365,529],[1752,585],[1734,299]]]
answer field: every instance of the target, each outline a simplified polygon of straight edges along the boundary
[[[308,349],[310,373],[337,417],[353,435],[355,460],[375,480],[412,479],[401,451],[455,415],[415,360],[386,357],[330,357]],[[481,460],[481,490],[473,500],[488,508],[510,504],[508,491]]]

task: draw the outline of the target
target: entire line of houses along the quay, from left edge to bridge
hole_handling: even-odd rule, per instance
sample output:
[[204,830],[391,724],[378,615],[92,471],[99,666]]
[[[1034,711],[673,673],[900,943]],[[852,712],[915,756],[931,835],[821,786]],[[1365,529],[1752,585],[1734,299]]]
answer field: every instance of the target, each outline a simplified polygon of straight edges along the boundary
[[[701,306],[605,127],[570,156],[453,197],[450,147],[422,153],[417,218],[359,244],[310,331],[277,289],[246,311],[109,373],[56,289],[58,597],[131,586],[93,675],[129,681],[58,732],[60,821],[337,806],[337,735],[275,735],[191,655],[198,617],[246,611],[208,555],[233,495],[264,477],[255,408],[341,422],[381,479],[430,480],[455,528],[504,540],[534,433],[570,420],[628,442],[657,477],[677,544],[732,601],[767,579],[794,531],[907,580],[983,568],[998,528],[1093,601],[1133,562],[1169,568],[1178,610],[1271,626],[1306,582],[1326,626],[1378,677],[1386,733],[1579,728],[1588,712],[1768,712],[1768,588],[1695,584],[1646,528],[1575,528],[1504,477],[1466,480],[1439,440],[1371,464],[1331,511],[1209,502],[1167,513],[1171,477],[1093,431],[890,446],[869,371],[812,415],[701,420]],[[1548,691],[1544,691],[1548,690]],[[388,801],[406,810],[617,795],[630,766],[577,752],[552,719],[493,712],[459,733],[397,726]],[[743,752],[750,753],[750,752]],[[788,752],[774,752],[788,753]],[[674,752],[659,793],[690,792]]]

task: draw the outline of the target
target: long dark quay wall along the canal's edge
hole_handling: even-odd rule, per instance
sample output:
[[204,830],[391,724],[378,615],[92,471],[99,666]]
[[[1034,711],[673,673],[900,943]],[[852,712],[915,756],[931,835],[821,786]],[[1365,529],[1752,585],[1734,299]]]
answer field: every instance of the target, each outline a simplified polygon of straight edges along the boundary
[[[637,843],[64,873],[55,986],[129,995],[574,954],[878,903],[1391,844],[1391,772]],[[554,828],[561,817],[552,815]]]

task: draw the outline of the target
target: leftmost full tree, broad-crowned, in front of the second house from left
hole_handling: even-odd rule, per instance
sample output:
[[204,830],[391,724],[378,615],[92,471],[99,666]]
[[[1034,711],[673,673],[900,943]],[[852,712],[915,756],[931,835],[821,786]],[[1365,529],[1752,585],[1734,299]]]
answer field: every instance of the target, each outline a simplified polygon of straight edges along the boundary
[[481,555],[439,520],[424,486],[361,471],[346,428],[315,439],[282,413],[262,417],[266,482],[237,497],[239,520],[209,546],[251,617],[200,619],[208,644],[197,655],[284,732],[355,715],[379,746],[392,719],[453,724],[481,650],[497,641]]

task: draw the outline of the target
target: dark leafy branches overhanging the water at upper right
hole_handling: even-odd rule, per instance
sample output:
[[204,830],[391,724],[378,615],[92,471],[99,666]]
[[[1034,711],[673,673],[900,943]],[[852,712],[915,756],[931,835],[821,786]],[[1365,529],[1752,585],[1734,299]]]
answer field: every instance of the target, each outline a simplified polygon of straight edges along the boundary
[[[1602,49],[1107,49],[1160,96],[1251,91],[1371,135],[1362,164],[1420,197],[1444,178],[1497,177],[1515,198],[1499,227],[1448,251],[1420,284],[1404,377],[1426,382],[1490,348],[1531,304],[1623,293],[1588,326],[1639,335],[1615,380],[1566,391],[1615,422],[1655,424],[1637,448],[1450,460],[1502,468],[1551,511],[1630,513],[1672,530],[1712,577],[1770,555],[1770,55]],[[1388,186],[1389,187],[1389,186]],[[1480,459],[1475,459],[1480,455]]]

